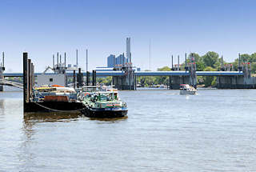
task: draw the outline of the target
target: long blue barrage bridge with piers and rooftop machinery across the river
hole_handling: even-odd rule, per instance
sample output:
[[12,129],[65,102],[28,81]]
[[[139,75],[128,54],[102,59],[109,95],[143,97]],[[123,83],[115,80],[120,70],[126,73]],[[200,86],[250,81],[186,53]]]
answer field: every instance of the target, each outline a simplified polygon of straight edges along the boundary
[[[23,53],[23,59],[24,59]],[[169,77],[169,88],[170,89],[179,89],[180,84],[190,84],[193,86],[197,86],[197,77],[198,76],[212,76],[217,77],[217,87],[218,88],[256,88],[256,78],[251,77],[250,67],[248,64],[245,66],[241,66],[240,58],[238,63],[238,71],[196,71],[196,63],[195,58],[190,56],[190,63],[185,64],[184,70],[178,68],[178,70],[172,67],[171,71],[135,71],[132,68],[132,65],[122,65],[120,67],[115,68],[112,71],[95,71],[93,73],[85,73],[81,71],[79,68],[78,74],[76,74],[75,70],[70,72],[66,70],[66,65],[62,65],[62,63],[53,64],[53,67],[48,67],[54,71],[54,73],[50,74],[66,74],[66,77],[75,77],[74,74],[78,78],[82,78],[81,76],[86,76],[86,82],[88,82],[88,78],[93,76],[93,82],[95,83],[95,77],[112,77],[112,82],[114,86],[118,88],[118,90],[136,90],[138,77],[144,76],[167,76]],[[58,61],[57,61],[58,62]],[[185,60],[186,62],[186,60]],[[66,64],[66,63],[65,63]],[[24,65],[24,64],[23,64]],[[223,65],[223,64],[222,64]],[[23,66],[24,68],[24,66]],[[4,68],[2,68],[2,71]],[[224,69],[225,70],[225,69]],[[2,72],[1,71],[1,72]],[[47,74],[46,71],[43,73],[34,73],[33,77],[36,77],[40,74]],[[22,84],[16,82],[8,82],[4,78],[8,77],[23,77],[23,73],[1,73],[0,74],[0,86],[15,86],[22,87]],[[30,76],[32,77],[32,75]],[[75,80],[77,80],[75,79]],[[75,81],[74,80],[74,81]],[[81,79],[79,81],[81,83]],[[0,89],[1,90],[1,89]]]

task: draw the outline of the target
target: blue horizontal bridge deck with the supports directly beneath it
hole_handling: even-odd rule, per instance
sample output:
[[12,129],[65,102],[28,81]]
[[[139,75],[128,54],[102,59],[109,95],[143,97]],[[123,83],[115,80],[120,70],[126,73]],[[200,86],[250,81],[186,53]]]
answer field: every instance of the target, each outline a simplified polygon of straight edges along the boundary
[[[37,76],[42,73],[35,73]],[[53,73],[49,73],[53,74]],[[86,73],[82,73],[86,76]],[[66,72],[68,77],[73,77],[74,73]],[[91,75],[91,73],[90,73]],[[23,77],[22,73],[4,73],[3,78],[8,77]],[[194,83],[197,85],[197,76],[215,76],[217,77],[217,87],[222,89],[229,88],[256,88],[256,78],[250,76],[250,71],[98,71],[97,77],[113,77],[114,85],[119,90],[136,90],[137,78],[143,76],[167,76],[169,77],[170,89],[178,89],[182,83]],[[2,83],[2,85],[17,86],[15,83]],[[1,85],[1,83],[0,83]]]

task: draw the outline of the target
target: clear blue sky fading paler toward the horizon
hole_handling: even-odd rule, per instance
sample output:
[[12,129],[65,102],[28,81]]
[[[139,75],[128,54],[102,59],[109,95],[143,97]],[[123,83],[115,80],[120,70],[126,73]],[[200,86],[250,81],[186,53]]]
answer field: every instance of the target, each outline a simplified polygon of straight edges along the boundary
[[256,51],[256,1],[249,0],[2,0],[0,51],[6,71],[22,71],[27,51],[37,71],[51,65],[52,54],[64,52],[68,63],[106,66],[109,54],[126,51],[131,38],[132,61],[143,70],[170,66],[185,53],[216,51],[231,62],[240,53]]

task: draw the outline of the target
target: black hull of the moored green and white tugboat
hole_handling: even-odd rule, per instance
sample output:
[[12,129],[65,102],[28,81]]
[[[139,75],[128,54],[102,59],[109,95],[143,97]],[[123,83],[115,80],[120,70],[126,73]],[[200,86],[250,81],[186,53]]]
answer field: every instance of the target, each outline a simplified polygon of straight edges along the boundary
[[120,108],[87,108],[82,113],[89,118],[123,118],[127,116],[128,109]]

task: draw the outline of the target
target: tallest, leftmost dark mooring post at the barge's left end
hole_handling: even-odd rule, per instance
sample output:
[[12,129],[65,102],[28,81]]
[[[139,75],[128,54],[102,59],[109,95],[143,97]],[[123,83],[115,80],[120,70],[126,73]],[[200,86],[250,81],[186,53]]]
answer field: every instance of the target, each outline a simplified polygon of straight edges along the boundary
[[27,103],[27,53],[23,53],[23,111],[26,112]]

